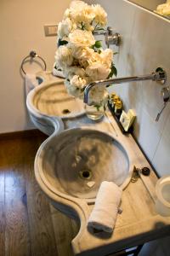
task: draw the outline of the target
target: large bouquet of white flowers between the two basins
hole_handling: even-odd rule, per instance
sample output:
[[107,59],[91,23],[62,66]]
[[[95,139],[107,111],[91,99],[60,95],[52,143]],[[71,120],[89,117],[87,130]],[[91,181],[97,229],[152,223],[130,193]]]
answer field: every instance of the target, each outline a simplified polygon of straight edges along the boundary
[[81,96],[87,84],[116,75],[113,51],[102,49],[93,32],[104,29],[107,14],[99,5],[72,1],[58,26],[55,66],[62,70],[65,85],[73,96]]

